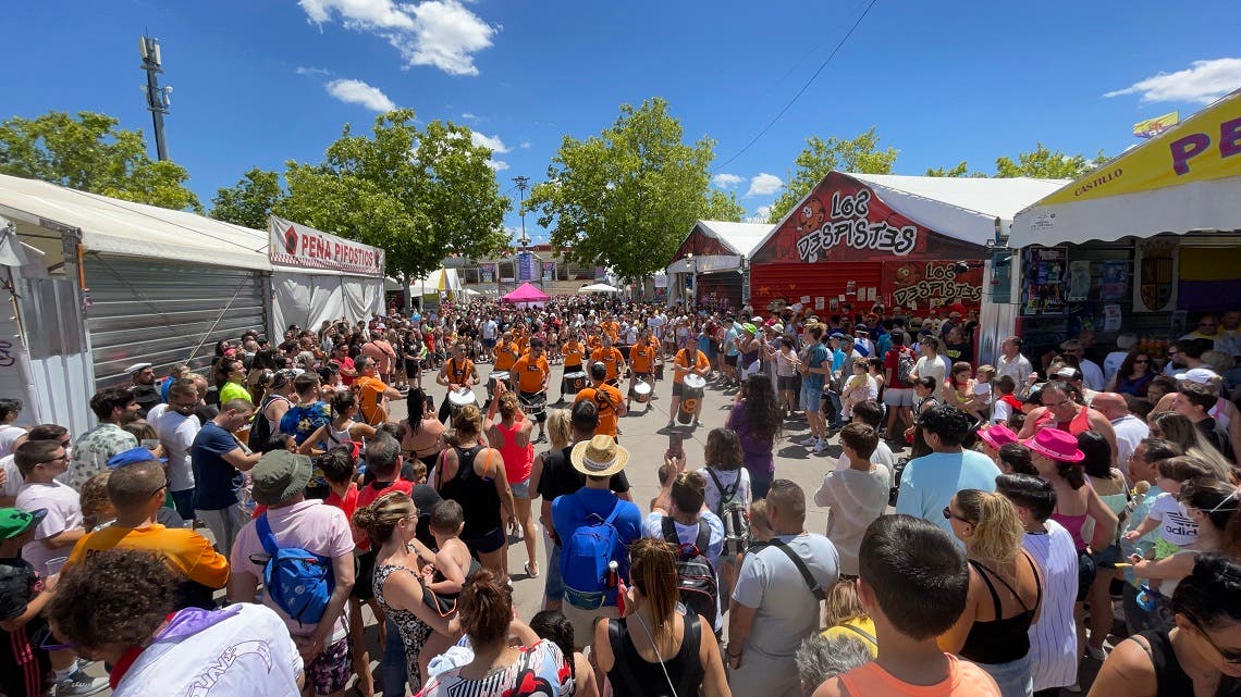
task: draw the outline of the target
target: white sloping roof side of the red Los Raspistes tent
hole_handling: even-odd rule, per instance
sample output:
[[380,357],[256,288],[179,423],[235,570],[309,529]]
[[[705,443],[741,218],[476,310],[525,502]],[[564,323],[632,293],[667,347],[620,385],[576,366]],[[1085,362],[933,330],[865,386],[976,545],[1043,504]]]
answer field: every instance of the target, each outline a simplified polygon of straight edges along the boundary
[[1061,179],[901,176],[841,172],[870,186],[894,210],[934,232],[974,244],[995,239],[995,218],[1018,211],[1066,184]]

